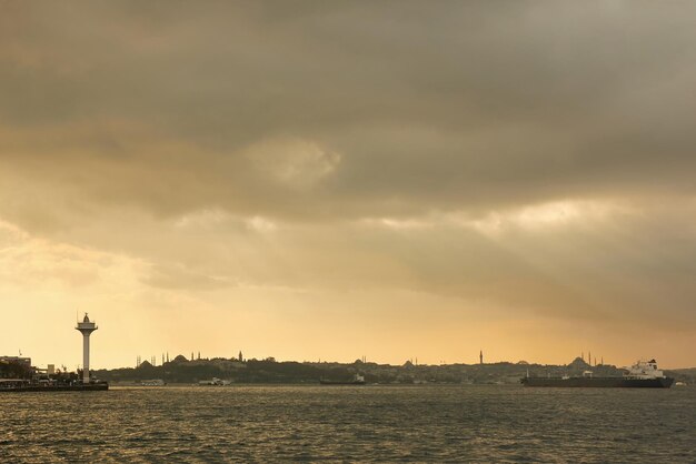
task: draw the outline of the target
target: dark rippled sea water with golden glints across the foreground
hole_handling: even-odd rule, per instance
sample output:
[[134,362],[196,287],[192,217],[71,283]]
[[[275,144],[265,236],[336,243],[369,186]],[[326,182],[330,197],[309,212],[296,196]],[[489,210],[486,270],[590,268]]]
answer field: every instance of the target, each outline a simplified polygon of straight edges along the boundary
[[696,462],[696,389],[1,393],[0,462]]

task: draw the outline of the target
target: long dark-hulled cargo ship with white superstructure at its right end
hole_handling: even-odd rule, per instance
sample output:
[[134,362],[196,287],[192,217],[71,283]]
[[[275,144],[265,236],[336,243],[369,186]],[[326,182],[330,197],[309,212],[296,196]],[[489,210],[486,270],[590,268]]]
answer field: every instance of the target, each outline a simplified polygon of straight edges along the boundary
[[530,377],[527,375],[520,382],[525,386],[669,389],[674,379],[665,376],[663,371],[657,369],[657,362],[650,360],[638,361],[622,377],[595,377],[591,371],[585,371],[581,376]]

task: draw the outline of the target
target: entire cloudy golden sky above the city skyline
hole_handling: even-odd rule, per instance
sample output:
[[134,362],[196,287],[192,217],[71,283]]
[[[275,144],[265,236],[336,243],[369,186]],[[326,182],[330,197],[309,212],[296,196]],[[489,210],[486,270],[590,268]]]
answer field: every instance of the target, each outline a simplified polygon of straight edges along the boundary
[[696,4],[0,2],[0,354],[696,365]]

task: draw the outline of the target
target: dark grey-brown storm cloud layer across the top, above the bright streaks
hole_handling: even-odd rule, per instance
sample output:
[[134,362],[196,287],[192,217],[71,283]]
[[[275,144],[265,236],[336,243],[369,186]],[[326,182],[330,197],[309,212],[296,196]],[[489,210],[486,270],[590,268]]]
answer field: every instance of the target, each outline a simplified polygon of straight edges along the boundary
[[[3,164],[97,202],[308,219],[693,194],[689,3],[2,8]],[[340,164],[292,189],[241,154],[288,138]]]

